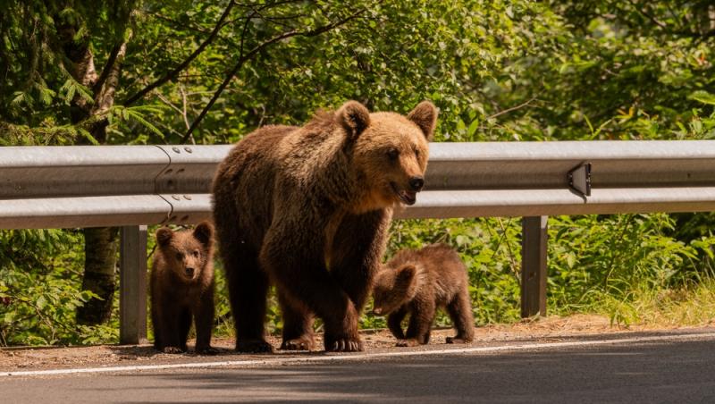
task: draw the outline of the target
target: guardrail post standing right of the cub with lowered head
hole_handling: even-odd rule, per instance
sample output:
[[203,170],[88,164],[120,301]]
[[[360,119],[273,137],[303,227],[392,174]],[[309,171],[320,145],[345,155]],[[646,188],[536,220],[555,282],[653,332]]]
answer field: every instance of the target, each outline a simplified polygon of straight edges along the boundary
[[549,216],[522,218],[521,316],[546,316],[546,240]]

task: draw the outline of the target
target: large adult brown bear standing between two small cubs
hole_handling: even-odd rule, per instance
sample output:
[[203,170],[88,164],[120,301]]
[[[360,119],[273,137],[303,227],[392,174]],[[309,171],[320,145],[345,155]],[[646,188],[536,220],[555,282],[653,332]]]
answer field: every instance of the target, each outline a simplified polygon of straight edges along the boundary
[[276,285],[282,349],[362,350],[358,316],[396,205],[425,183],[437,109],[370,114],[349,101],[302,127],[266,126],[233,147],[214,178],[214,223],[236,349],[268,352],[266,293]]

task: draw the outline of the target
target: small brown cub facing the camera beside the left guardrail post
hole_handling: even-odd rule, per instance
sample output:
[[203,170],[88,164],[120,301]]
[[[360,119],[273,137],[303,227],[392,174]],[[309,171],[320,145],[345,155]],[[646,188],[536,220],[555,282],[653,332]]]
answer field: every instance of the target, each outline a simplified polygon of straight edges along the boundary
[[214,228],[199,223],[193,231],[156,231],[156,257],[149,293],[154,348],[165,353],[185,352],[194,318],[196,352],[214,354]]

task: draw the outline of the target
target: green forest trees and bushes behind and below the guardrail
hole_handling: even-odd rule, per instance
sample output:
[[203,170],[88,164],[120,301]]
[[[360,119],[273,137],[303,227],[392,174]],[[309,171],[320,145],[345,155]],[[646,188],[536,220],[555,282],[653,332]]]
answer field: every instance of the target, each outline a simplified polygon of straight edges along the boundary
[[[430,99],[441,110],[435,141],[715,138],[707,0],[0,0],[0,9],[0,146],[226,144],[348,99],[402,114]],[[551,217],[550,313],[710,323],[713,223],[712,214]],[[398,221],[388,257],[449,243],[469,267],[477,325],[515,322],[519,232],[518,218]],[[0,231],[0,345],[118,341],[116,245],[114,228]],[[217,274],[215,332],[229,335]],[[279,330],[274,304],[269,317]],[[362,325],[384,321],[365,315]]]

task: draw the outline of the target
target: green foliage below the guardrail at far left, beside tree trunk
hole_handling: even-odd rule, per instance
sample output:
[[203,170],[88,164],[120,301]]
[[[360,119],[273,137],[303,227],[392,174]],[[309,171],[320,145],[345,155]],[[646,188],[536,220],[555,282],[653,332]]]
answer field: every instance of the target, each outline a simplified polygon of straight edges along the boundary
[[0,231],[0,345],[118,340],[116,321],[75,322],[75,309],[94,296],[79,287],[81,244],[76,231]]

